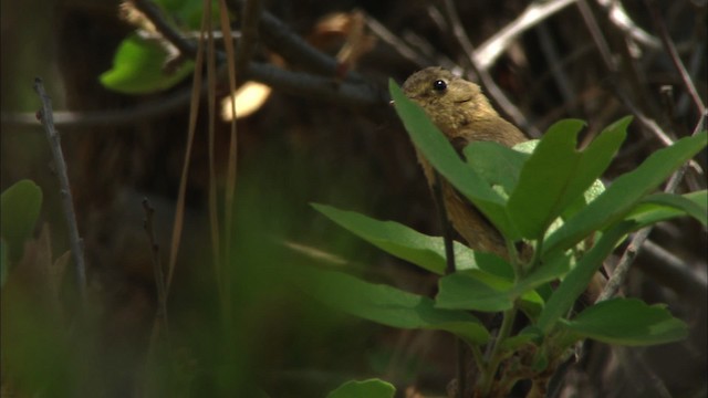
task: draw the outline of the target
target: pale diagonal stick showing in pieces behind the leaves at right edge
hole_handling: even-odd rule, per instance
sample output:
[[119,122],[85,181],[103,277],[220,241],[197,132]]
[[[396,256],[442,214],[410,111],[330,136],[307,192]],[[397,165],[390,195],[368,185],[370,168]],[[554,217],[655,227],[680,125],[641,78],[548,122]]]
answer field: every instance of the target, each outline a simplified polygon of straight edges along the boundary
[[[694,133],[691,135],[696,135],[702,130],[704,124],[706,122],[706,117],[707,115],[706,113],[704,113],[700,119],[698,121],[698,124],[694,128]],[[664,189],[666,193],[673,193],[674,191],[676,191],[676,188],[678,187],[678,184],[684,178],[684,175],[686,174],[687,168],[688,168],[688,164],[681,166],[678,170],[676,170],[676,172],[674,172],[674,175],[671,175],[671,178],[669,178]],[[639,253],[639,250],[642,249],[642,244],[648,238],[649,233],[652,232],[652,229],[653,227],[647,227],[634,234],[634,238],[632,238],[632,242],[629,242],[629,245],[627,247],[625,252],[622,253],[622,258],[620,259],[617,266],[613,271],[612,276],[610,277],[610,281],[607,281],[605,289],[603,289],[602,293],[600,294],[595,303],[603,302],[607,298],[613,297],[615,294],[617,294],[617,291],[624,284],[624,281],[627,277],[632,262]]]

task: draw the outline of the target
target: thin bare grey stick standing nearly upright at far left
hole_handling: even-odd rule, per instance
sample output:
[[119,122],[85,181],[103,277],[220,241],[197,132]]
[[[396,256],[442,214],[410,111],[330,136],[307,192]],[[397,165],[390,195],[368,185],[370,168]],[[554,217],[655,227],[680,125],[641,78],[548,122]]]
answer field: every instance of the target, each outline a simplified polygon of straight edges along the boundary
[[60,192],[62,197],[62,208],[64,218],[69,228],[69,242],[71,245],[72,259],[74,260],[74,273],[76,279],[76,289],[81,298],[81,306],[85,304],[86,298],[86,266],[84,264],[83,240],[79,235],[79,226],[76,223],[76,213],[74,212],[74,202],[69,186],[69,172],[66,171],[66,161],[62,151],[61,138],[59,132],[54,128],[54,115],[52,113],[52,100],[44,91],[44,85],[40,77],[34,77],[34,91],[40,96],[42,108],[39,112],[39,119],[44,125],[46,139],[52,151],[56,175],[59,177]]

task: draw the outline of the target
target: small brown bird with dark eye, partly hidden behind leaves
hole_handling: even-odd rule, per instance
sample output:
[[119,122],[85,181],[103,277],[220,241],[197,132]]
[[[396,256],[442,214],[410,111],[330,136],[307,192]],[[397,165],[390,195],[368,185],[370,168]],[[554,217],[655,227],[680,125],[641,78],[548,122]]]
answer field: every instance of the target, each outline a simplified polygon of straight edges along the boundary
[[[508,147],[528,138],[491,107],[481,88],[434,66],[410,75],[403,84],[404,94],[420,105],[433,123],[447,136],[458,154],[471,142],[496,142]],[[428,185],[436,184],[430,164],[416,148]],[[452,227],[470,248],[509,258],[499,231],[450,184],[440,181],[445,208]]]

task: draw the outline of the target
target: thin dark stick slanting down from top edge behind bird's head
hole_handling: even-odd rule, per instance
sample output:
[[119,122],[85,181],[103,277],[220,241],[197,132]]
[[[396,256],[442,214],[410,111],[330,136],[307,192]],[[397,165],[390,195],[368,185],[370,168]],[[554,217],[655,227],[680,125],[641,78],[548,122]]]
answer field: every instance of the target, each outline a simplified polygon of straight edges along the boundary
[[479,76],[482,86],[487,88],[489,95],[491,95],[494,101],[497,101],[499,106],[504,111],[507,115],[509,115],[509,117],[511,117],[517,126],[529,132],[532,137],[540,137],[541,132],[539,132],[529,123],[521,111],[519,111],[519,108],[507,97],[507,95],[501,91],[497,83],[494,83],[493,78],[491,78],[491,76],[489,75],[489,72],[478,65],[475,57],[475,48],[467,36],[467,33],[465,33],[465,28],[462,27],[460,17],[457,13],[457,9],[455,8],[452,0],[445,0],[444,3],[450,25],[452,27],[452,34],[462,48],[465,54],[467,54],[467,60],[469,61],[472,71],[475,71],[475,73],[477,73],[477,75]]

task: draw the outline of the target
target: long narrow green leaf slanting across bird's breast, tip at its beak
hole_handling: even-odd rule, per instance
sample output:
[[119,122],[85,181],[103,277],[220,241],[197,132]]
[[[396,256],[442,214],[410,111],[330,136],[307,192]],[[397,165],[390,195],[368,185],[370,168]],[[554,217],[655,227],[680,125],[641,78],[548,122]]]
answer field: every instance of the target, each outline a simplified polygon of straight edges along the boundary
[[394,100],[396,113],[410,135],[413,144],[423,156],[507,239],[518,240],[519,232],[507,214],[504,199],[460,159],[452,145],[430,122],[425,111],[408,100],[393,80],[388,81],[388,91]]

